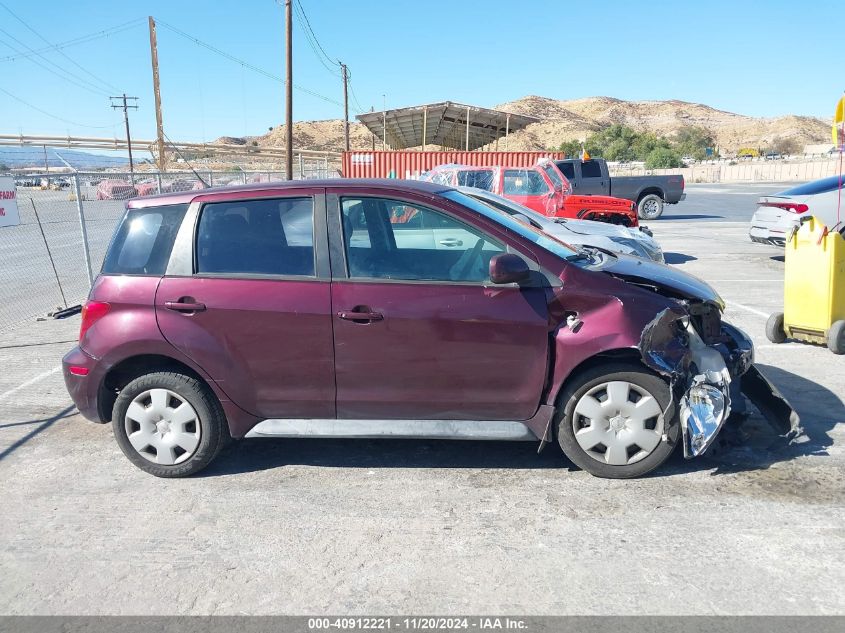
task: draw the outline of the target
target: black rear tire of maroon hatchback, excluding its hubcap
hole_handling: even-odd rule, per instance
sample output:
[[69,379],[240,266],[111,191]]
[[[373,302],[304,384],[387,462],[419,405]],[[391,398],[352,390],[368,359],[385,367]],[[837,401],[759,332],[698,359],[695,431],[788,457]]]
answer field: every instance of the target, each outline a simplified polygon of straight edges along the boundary
[[[199,443],[180,463],[156,464],[144,458],[129,440],[126,414],[133,400],[153,389],[165,389],[187,402],[196,413]],[[155,372],[140,376],[118,394],[112,410],[112,429],[123,454],[138,468],[156,477],[187,477],[200,472],[217,456],[229,439],[223,407],[214,392],[200,380],[175,372]]]

